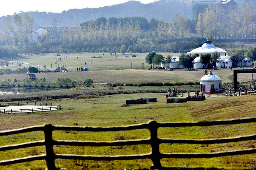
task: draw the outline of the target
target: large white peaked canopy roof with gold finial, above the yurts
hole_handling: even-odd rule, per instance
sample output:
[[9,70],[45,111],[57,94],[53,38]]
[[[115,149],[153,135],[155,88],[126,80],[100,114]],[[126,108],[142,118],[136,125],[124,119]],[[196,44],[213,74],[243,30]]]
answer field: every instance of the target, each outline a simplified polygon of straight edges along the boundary
[[218,54],[226,54],[227,51],[215,47],[211,41],[207,38],[207,41],[199,48],[195,48],[194,50],[188,52],[188,54],[213,54],[217,52]]

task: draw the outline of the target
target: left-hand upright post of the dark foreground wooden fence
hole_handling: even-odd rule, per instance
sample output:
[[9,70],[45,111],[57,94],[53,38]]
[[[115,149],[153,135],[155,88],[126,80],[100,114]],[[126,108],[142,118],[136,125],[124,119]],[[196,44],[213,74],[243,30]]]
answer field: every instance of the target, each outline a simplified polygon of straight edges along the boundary
[[56,170],[55,167],[55,153],[53,152],[52,144],[52,125],[44,125],[44,138],[45,138],[45,150],[46,150],[46,164],[48,170]]

